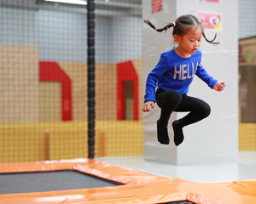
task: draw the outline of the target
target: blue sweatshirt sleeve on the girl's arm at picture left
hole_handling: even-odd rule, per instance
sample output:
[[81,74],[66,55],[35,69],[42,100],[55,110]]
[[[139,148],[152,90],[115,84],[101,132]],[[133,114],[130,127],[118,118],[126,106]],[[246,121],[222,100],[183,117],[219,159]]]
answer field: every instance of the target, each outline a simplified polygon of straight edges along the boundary
[[144,95],[144,103],[148,100],[155,102],[156,84],[160,81],[160,78],[162,77],[163,73],[165,73],[167,68],[168,63],[166,56],[161,54],[159,62],[157,63],[157,65],[155,65],[154,69],[148,74],[148,78],[146,81],[146,91]]

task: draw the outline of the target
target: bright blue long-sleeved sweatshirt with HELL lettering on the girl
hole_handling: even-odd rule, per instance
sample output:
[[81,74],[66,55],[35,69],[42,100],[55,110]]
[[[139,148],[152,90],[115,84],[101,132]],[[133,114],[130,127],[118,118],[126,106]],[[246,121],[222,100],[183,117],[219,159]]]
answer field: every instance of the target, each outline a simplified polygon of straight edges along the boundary
[[148,100],[155,102],[156,87],[187,94],[189,85],[195,75],[206,82],[210,88],[213,88],[217,82],[216,79],[208,75],[201,65],[201,50],[196,50],[195,54],[192,54],[189,58],[182,58],[172,48],[161,54],[158,64],[148,74],[144,102]]

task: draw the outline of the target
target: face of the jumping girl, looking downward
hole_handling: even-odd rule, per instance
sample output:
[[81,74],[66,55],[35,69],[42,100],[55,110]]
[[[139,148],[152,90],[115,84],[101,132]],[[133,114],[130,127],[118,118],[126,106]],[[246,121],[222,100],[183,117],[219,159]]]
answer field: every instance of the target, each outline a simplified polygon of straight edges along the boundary
[[191,54],[195,54],[195,51],[200,48],[201,45],[201,27],[190,29],[183,36],[174,35],[174,40],[177,42],[177,53],[181,57],[190,57]]

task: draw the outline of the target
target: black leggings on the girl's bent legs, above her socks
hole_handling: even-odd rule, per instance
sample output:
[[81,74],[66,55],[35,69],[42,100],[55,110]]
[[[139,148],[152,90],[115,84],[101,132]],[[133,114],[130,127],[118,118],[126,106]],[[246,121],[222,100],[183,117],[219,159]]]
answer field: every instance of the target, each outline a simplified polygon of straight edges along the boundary
[[172,111],[189,112],[187,116],[178,120],[180,127],[199,122],[211,113],[211,107],[205,101],[187,94],[181,95],[176,91],[165,91],[158,88],[155,99],[161,109],[159,122],[163,127],[167,127]]

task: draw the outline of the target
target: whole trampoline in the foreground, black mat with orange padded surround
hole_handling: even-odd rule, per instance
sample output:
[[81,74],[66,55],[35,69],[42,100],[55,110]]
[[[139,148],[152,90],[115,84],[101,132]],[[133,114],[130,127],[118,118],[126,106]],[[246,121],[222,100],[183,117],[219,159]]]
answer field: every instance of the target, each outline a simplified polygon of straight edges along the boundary
[[0,203],[256,203],[256,182],[200,184],[76,159],[0,164]]

